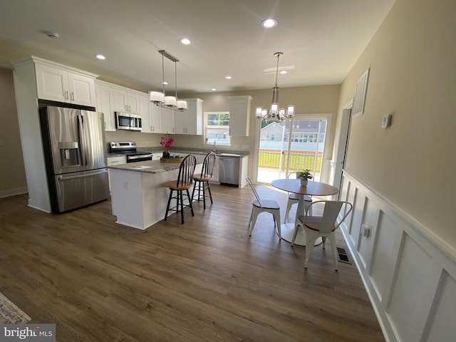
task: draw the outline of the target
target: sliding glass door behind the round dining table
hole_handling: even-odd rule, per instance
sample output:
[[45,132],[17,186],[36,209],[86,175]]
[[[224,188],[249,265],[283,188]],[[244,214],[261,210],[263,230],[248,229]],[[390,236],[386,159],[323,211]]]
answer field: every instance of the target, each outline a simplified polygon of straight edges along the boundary
[[286,178],[289,172],[309,169],[320,180],[328,116],[296,115],[262,121],[259,136],[257,182]]

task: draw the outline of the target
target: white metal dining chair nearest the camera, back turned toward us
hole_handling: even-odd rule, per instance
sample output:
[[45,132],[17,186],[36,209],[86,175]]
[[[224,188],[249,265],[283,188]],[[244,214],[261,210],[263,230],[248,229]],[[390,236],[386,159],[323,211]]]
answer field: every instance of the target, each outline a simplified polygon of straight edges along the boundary
[[[324,204],[323,216],[311,216],[309,211],[307,211],[304,216],[299,216],[296,226],[294,227],[291,247],[294,245],[294,240],[296,239],[296,234],[298,234],[299,228],[304,229],[304,232],[306,233],[306,260],[304,261],[304,267],[307,268],[307,263],[312,251],[314,250],[316,239],[318,239],[318,237],[323,239],[324,249],[326,238],[328,238],[331,241],[334,268],[337,271],[336,236],[334,231],[341,225],[343,220],[346,219],[348,214],[350,214],[353,206],[350,202],[345,201],[315,201],[309,204],[309,207],[318,204]],[[340,219],[338,219],[339,213],[343,215]]]

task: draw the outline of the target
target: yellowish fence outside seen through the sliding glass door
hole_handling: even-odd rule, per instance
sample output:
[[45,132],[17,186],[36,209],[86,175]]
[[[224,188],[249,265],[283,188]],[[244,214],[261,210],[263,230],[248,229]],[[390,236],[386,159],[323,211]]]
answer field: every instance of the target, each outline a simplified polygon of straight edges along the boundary
[[[285,171],[286,163],[289,158],[289,160],[290,160],[289,171],[301,171],[304,169],[314,170],[314,160],[315,160],[314,151],[291,150],[290,154],[288,154],[287,152],[288,151],[260,148],[258,167],[261,167],[264,169],[279,170],[279,166],[280,166],[280,170]],[[281,154],[282,154],[282,160],[280,160]],[[322,158],[323,158],[323,152],[318,152],[315,173],[321,172]]]

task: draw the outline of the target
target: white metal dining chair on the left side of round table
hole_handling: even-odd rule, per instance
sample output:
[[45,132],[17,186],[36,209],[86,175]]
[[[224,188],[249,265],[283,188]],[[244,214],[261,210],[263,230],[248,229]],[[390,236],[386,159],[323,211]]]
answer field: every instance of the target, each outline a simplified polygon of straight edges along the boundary
[[279,203],[275,199],[260,198],[252,180],[250,180],[249,177],[246,177],[246,180],[248,185],[247,189],[249,189],[249,194],[252,199],[252,213],[250,214],[249,225],[247,226],[249,229],[249,236],[252,236],[252,230],[254,230],[255,224],[257,223],[258,215],[261,214],[261,212],[269,212],[274,217],[274,228],[277,229],[279,241],[281,241]]

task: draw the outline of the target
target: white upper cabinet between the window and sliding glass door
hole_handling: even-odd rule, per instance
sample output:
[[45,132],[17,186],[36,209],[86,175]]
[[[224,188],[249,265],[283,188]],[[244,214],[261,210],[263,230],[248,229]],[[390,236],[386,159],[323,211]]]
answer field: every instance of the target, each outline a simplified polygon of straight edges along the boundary
[[232,137],[248,137],[252,96],[228,96],[228,99],[229,135]]

